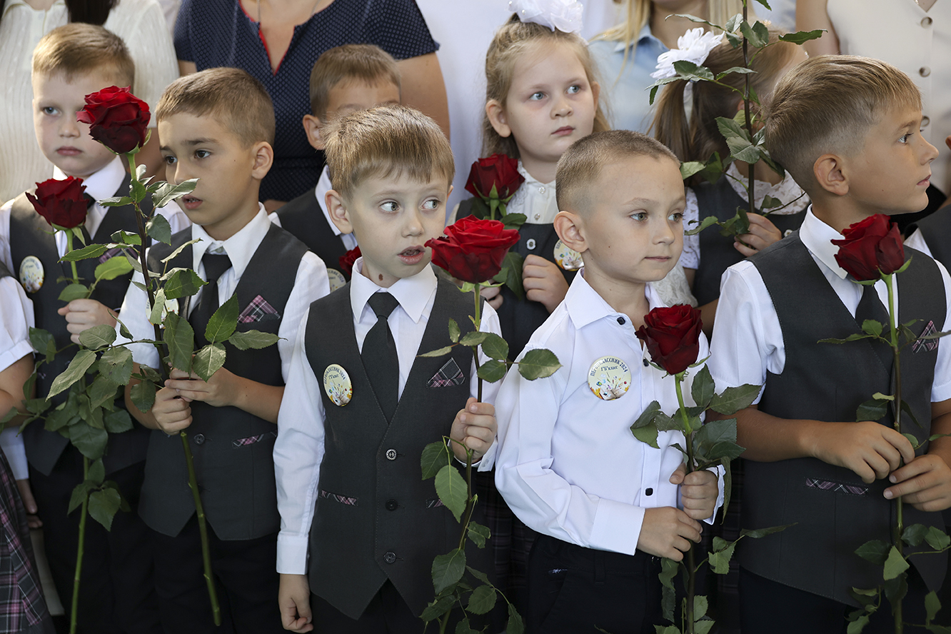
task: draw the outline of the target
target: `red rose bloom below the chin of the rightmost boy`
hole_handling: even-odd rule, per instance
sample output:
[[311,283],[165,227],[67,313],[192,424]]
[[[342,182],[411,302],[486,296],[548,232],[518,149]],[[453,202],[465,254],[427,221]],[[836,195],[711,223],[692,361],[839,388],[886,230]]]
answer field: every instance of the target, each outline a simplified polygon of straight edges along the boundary
[[859,281],[891,275],[904,264],[902,234],[898,225],[883,214],[869,216],[842,232],[842,240],[832,240],[839,247],[835,260]]

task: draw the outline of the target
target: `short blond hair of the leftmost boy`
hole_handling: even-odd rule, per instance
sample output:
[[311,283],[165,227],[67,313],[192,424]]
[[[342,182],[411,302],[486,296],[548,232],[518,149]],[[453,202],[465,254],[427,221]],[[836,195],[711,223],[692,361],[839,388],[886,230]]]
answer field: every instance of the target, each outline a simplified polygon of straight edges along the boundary
[[[52,29],[33,49],[32,73],[73,77],[91,72],[112,74],[116,86],[135,83],[135,63],[122,38],[103,27],[73,22]],[[107,86],[103,86],[104,88]]]

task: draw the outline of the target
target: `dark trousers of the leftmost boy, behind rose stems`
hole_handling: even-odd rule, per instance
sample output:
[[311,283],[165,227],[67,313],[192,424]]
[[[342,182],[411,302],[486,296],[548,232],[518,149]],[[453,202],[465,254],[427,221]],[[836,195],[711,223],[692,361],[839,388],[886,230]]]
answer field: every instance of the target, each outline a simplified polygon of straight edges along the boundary
[[[114,473],[131,512],[119,511],[107,531],[87,518],[79,586],[78,631],[87,634],[161,632],[152,579],[148,529],[139,519],[145,463]],[[68,445],[49,475],[29,469],[30,487],[43,520],[44,544],[53,583],[69,613],[79,544],[80,510],[67,514],[69,496],[83,481],[82,454]]]

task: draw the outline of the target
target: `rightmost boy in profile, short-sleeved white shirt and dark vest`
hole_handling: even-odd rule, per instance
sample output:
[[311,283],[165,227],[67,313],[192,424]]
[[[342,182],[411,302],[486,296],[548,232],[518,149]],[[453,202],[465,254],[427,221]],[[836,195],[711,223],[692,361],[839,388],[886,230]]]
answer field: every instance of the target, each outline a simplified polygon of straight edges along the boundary
[[[924,208],[938,151],[921,123],[915,85],[872,59],[811,58],[776,87],[767,146],[812,206],[798,232],[727,270],[709,364],[718,388],[764,385],[759,402],[737,414],[737,442],[747,448],[743,527],[796,523],[739,548],[744,632],[844,632],[858,605],[850,588],[883,583],[882,567],[855,549],[891,542],[898,496],[905,526],[944,527],[936,511],[951,505],[951,441],[913,451],[890,413],[852,422],[872,394],[893,394],[887,346],[819,343],[861,332],[865,319],[887,321],[884,282],[855,283],[830,240],[873,214]],[[948,330],[947,271],[912,249],[905,258],[897,322],[916,335]],[[951,346],[936,343],[902,351],[902,398],[921,423],[903,416],[902,432],[920,441],[951,432]],[[922,623],[924,586],[941,585],[946,558],[911,561],[905,621]],[[884,604],[871,624],[882,631],[892,620]],[[777,605],[795,609],[777,618]]]

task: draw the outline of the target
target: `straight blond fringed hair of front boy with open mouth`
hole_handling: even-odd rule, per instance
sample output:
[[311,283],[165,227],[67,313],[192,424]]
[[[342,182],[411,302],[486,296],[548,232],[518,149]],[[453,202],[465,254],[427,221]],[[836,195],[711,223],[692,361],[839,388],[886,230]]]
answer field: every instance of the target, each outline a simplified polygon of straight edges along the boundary
[[331,122],[326,161],[334,189],[351,195],[367,178],[394,174],[426,182],[456,176],[453,149],[432,119],[406,106],[377,106]]

